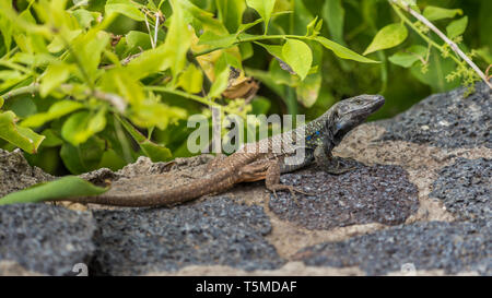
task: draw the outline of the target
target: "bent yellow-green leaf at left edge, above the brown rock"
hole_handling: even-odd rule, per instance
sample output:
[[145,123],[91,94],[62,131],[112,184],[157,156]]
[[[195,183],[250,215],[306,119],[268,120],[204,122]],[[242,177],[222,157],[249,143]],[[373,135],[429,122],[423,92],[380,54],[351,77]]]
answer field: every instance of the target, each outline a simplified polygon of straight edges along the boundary
[[36,153],[39,144],[45,139],[27,128],[15,124],[15,114],[8,110],[0,114],[0,139],[22,148],[27,153]]

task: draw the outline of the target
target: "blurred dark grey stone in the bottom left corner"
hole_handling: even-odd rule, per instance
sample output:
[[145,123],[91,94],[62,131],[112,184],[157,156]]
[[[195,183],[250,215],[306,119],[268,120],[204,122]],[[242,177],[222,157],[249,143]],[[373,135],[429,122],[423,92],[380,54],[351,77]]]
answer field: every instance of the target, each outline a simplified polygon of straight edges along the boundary
[[89,265],[95,228],[90,213],[48,204],[0,206],[0,262],[14,261],[42,274],[75,275],[75,264]]

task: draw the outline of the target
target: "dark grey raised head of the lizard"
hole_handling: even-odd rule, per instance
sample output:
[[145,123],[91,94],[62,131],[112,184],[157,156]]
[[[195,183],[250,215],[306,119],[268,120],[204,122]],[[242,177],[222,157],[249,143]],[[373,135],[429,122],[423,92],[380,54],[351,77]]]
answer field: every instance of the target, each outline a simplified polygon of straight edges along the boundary
[[364,122],[384,104],[385,98],[382,95],[359,95],[338,102],[327,123],[335,144],[338,145],[349,131]]

